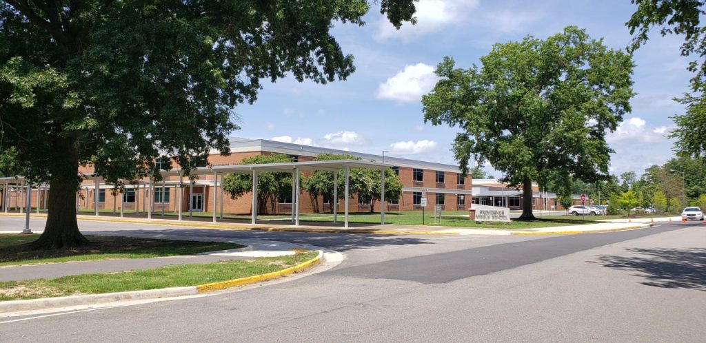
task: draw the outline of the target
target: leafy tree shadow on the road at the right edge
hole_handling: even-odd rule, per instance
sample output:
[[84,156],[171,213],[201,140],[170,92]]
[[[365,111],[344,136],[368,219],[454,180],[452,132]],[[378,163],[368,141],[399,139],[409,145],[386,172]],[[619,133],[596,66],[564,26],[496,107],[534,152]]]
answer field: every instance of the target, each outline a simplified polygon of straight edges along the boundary
[[604,267],[630,270],[647,286],[706,291],[706,248],[628,248],[632,256],[601,255]]

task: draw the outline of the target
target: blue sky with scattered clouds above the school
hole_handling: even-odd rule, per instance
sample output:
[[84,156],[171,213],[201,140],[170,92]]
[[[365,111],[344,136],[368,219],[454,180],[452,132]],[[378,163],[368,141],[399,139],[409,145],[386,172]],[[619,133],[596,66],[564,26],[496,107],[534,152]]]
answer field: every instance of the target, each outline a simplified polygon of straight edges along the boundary
[[[457,129],[424,124],[419,101],[436,82],[433,68],[443,56],[467,68],[495,42],[544,38],[567,25],[619,49],[630,43],[625,23],[633,11],[629,0],[421,0],[417,25],[405,23],[397,31],[373,4],[365,26],[333,29],[344,51],[355,56],[354,75],[328,85],[291,77],[265,82],[255,104],[236,109],[242,129],[232,136],[376,154],[390,150],[385,155],[455,164],[450,147]],[[681,37],[663,38],[655,30],[635,53],[638,95],[633,112],[608,136],[616,150],[611,173],[640,175],[674,155],[664,134],[674,128],[669,116],[684,109],[671,99],[688,90],[691,77],[680,45]]]

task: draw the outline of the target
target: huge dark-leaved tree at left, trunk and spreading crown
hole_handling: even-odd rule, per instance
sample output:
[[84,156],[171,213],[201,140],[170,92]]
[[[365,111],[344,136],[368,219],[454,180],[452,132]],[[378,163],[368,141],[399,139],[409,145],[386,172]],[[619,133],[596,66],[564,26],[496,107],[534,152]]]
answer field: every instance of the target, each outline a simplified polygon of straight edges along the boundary
[[[380,5],[397,28],[414,22],[413,0]],[[164,152],[188,174],[189,157],[228,152],[233,109],[261,80],[345,80],[353,56],[330,29],[364,25],[368,11],[365,0],[0,1],[0,161],[52,189],[34,247],[87,243],[79,165],[120,188],[160,179]]]

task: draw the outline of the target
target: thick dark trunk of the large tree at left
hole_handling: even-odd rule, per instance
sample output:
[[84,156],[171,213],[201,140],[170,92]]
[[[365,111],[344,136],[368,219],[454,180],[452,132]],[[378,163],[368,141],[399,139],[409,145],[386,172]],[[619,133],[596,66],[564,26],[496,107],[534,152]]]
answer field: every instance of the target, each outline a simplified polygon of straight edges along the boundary
[[88,239],[78,231],[76,222],[78,151],[74,140],[57,138],[54,150],[66,159],[52,170],[47,224],[42,236],[30,243],[30,248],[33,249],[73,248],[88,243]]

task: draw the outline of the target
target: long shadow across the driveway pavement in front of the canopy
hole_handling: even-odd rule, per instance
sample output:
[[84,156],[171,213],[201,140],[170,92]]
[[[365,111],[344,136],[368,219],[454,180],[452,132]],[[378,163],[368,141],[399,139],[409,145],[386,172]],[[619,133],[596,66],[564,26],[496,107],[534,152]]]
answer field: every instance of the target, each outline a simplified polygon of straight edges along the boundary
[[109,234],[112,236],[140,236],[156,239],[262,239],[311,244],[336,251],[376,246],[405,246],[432,244],[429,240],[409,236],[368,234],[302,234],[297,232],[227,231],[219,229],[154,229],[154,230],[100,230],[83,231],[83,234]]

